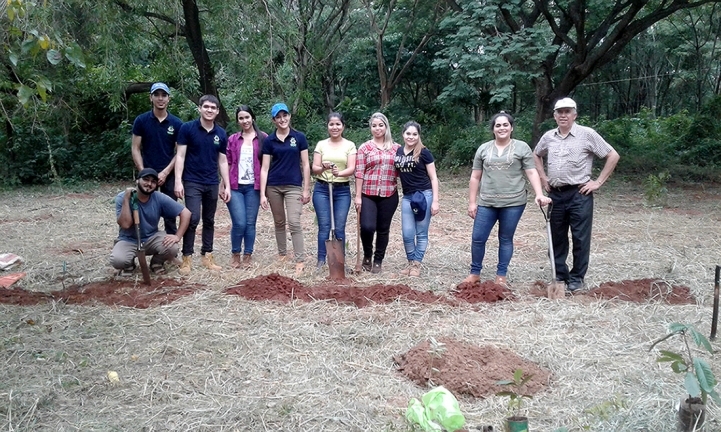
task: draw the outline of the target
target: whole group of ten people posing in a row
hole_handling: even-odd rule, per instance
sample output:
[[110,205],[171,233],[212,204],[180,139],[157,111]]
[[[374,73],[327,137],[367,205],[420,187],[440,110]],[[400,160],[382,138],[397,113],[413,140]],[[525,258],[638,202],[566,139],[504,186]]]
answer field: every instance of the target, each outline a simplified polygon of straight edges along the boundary
[[[138,178],[135,188],[128,188],[116,197],[120,235],[111,254],[115,268],[134,269],[132,246],[137,239],[129,215],[132,210],[139,210],[140,240],[145,243],[146,252],[153,255],[153,271],[163,272],[164,262],[174,261],[179,264],[180,274],[190,273],[201,219],[201,264],[211,270],[221,269],[212,255],[214,218],[220,198],[226,203],[232,222],[230,266],[251,265],[259,208],[270,209],[277,259],[288,260],[288,229],[296,275],[305,269],[302,209],[312,199],[318,222],[316,269],[321,270],[326,262],[325,242],[331,226],[336,238],[345,243],[352,201],[350,178],[354,177],[353,204],[360,224],[363,270],[375,274],[382,271],[391,221],[400,204],[407,258],[400,273],[420,276],[430,220],[439,212],[440,200],[434,158],[422,143],[418,123],[410,121],[403,126],[400,145],[393,140],[385,115],[375,113],[369,121],[371,139],[356,149],[353,142],[343,137],[343,116],[331,113],[327,119],[328,138],[317,143],[309,163],[306,136],[291,127],[291,113],[283,103],[271,109],[275,131],[270,134],[258,128],[249,106],[239,106],[235,120],[240,131],[227,137],[225,130],[215,124],[220,103],[214,96],[200,98],[199,118],[187,123],[168,112],[169,100],[169,88],[163,83],[153,84],[150,90],[153,109],[138,116],[133,125],[132,156]],[[590,252],[592,192],[611,175],[618,154],[592,129],[575,125],[575,108],[575,102],[568,98],[556,104],[554,116],[559,128],[544,135],[535,152],[528,144],[512,138],[511,115],[501,112],[491,119],[494,139],[478,148],[469,183],[468,215],[474,219],[472,264],[464,282],[480,281],[485,245],[498,223],[495,282],[506,284],[513,235],[526,207],[525,175],[538,206],[554,203],[551,221],[557,279],[565,281],[570,290],[583,283]],[[596,181],[590,180],[594,156],[607,158]],[[544,157],[548,159],[549,176],[545,175]],[[311,176],[315,179],[312,198]],[[162,194],[154,195],[156,190]],[[544,190],[550,192],[550,197],[544,195]],[[184,198],[185,206],[177,202],[179,198]],[[158,232],[161,217],[165,234]],[[574,267],[570,271],[565,265],[569,227],[574,244]],[[176,258],[181,238],[182,261]]]

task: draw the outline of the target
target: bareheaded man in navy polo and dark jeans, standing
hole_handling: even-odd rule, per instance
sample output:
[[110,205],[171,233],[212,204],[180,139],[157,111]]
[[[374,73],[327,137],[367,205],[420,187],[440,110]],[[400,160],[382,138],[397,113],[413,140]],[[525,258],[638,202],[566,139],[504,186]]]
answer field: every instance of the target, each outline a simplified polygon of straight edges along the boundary
[[[228,136],[225,130],[215,124],[220,101],[213,95],[200,98],[198,111],[200,118],[189,121],[180,128],[178,151],[175,157],[175,173],[179,180],[175,182],[175,195],[185,197],[185,206],[192,213],[190,226],[183,236],[183,262],[178,269],[182,275],[190,273],[193,264],[193,245],[195,230],[200,218],[203,218],[203,244],[200,263],[210,270],[222,267],[213,259],[213,234],[215,231],[215,210],[218,206],[218,169],[223,178],[223,190],[220,198],[230,201],[230,178],[228,159],[225,151]],[[202,208],[202,212],[201,212]]]

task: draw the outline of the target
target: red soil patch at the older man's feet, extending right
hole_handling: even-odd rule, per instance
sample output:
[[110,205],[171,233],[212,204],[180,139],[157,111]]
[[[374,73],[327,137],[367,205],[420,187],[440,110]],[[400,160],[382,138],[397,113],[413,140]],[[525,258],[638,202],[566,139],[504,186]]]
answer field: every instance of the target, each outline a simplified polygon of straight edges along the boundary
[[[536,281],[531,295],[546,297],[548,285]],[[622,300],[635,303],[663,302],[673,305],[694,304],[691,290],[683,285],[671,285],[658,279],[635,279],[620,282],[604,282],[598,288],[574,293],[574,297],[589,296],[604,300]]]

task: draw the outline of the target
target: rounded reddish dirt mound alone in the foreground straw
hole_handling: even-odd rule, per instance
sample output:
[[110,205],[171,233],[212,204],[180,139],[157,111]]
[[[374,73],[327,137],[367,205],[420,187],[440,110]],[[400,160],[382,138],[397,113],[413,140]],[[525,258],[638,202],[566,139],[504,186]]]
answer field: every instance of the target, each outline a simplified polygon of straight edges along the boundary
[[[394,358],[398,371],[426,387],[442,385],[455,395],[487,397],[507,390],[496,383],[512,379],[516,369],[533,375],[520,393],[534,395],[548,386],[551,372],[514,352],[493,346],[473,346],[450,338],[423,341]],[[515,390],[515,389],[514,389]]]

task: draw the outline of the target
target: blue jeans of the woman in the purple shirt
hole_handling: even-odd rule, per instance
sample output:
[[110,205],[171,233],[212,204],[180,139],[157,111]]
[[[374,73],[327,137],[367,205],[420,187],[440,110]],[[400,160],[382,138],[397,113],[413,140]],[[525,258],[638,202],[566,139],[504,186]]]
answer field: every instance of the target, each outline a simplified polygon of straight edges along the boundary
[[252,254],[255,246],[255,223],[258,220],[260,207],[260,191],[252,184],[238,185],[238,190],[230,190],[230,201],[227,203],[230,220],[230,247],[232,253],[240,253],[245,243],[244,254]]

